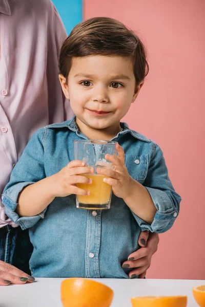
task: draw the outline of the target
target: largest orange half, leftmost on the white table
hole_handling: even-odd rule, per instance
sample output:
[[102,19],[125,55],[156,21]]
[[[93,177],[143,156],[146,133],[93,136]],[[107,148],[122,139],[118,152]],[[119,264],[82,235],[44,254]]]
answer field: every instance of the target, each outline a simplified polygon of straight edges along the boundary
[[64,307],[109,307],[114,292],[101,282],[87,278],[68,278],[61,282]]

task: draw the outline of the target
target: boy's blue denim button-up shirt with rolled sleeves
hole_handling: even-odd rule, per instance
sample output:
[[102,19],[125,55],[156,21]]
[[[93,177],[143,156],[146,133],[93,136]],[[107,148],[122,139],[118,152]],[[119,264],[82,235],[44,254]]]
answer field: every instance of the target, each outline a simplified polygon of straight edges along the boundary
[[[87,139],[75,117],[40,128],[15,165],[2,202],[6,214],[22,229],[29,228],[34,250],[30,268],[35,277],[128,278],[122,262],[139,248],[141,230],[165,232],[179,213],[180,196],[168,177],[162,151],[155,142],[126,123],[113,138],[125,151],[130,176],[149,191],[157,212],[151,225],[112,195],[109,210],[77,209],[75,195],[56,197],[36,216],[19,217],[18,194],[30,184],[59,172],[73,160],[73,140]],[[29,206],[29,204],[28,204]]]

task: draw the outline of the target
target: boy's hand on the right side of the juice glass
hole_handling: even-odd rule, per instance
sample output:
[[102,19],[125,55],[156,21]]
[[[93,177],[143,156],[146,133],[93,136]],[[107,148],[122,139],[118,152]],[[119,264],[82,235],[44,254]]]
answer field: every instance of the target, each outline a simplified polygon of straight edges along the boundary
[[116,149],[118,152],[117,157],[111,155],[105,156],[106,160],[114,165],[114,170],[108,168],[97,168],[97,173],[109,177],[105,178],[104,182],[112,186],[113,193],[117,197],[124,199],[131,189],[133,179],[129,175],[125,165],[125,152],[123,148],[119,144],[116,144]]

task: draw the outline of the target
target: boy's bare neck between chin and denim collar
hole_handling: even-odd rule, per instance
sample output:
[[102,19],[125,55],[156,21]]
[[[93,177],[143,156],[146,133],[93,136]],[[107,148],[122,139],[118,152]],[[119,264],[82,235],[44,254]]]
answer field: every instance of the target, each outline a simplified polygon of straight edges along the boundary
[[80,132],[90,140],[110,141],[120,132],[120,123],[105,129],[94,129],[87,126],[76,117],[76,124],[78,125]]

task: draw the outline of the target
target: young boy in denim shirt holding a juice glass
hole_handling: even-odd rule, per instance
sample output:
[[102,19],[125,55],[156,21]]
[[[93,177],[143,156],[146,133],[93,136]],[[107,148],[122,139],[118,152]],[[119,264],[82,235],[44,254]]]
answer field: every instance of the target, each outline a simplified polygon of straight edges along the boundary
[[[75,117],[33,135],[4,190],[6,214],[29,228],[32,276],[128,278],[121,264],[140,230],[170,229],[180,203],[160,148],[120,122],[144,84],[146,52],[119,21],[91,18],[64,42],[59,68]],[[118,157],[106,156],[115,169],[97,170],[113,189],[109,210],[76,208],[75,194],[89,194],[76,184],[93,172],[73,160],[77,139],[118,142]]]

